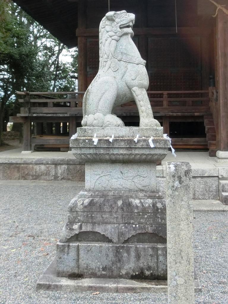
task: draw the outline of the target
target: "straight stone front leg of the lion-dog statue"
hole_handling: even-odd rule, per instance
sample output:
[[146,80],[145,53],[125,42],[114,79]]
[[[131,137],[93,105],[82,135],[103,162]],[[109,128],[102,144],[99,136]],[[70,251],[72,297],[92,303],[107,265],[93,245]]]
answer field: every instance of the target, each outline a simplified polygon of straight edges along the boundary
[[138,87],[132,88],[131,91],[139,110],[139,126],[147,128],[161,127],[160,123],[156,119],[154,119],[147,91],[144,88]]

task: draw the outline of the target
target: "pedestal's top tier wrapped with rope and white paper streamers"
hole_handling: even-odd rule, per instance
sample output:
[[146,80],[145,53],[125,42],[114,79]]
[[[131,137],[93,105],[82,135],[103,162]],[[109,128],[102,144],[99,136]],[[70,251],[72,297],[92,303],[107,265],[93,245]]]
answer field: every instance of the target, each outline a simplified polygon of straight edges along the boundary
[[[96,134],[98,142],[92,140]],[[112,142],[109,138],[114,135]],[[139,139],[135,143],[137,134]],[[163,128],[112,127],[112,128],[78,128],[77,139],[70,140],[74,156],[85,162],[157,162],[164,159],[170,146],[169,140],[163,138]],[[154,148],[148,140],[153,136]],[[145,137],[143,139],[143,137]]]

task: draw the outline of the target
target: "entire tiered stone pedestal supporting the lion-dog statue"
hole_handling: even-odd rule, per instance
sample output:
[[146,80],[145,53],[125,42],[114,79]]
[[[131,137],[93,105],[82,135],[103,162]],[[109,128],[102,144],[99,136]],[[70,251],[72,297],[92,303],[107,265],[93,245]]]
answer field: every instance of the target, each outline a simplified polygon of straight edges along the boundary
[[57,276],[167,278],[166,205],[156,192],[156,162],[170,146],[163,128],[83,127],[70,145],[85,161],[85,190],[68,207]]

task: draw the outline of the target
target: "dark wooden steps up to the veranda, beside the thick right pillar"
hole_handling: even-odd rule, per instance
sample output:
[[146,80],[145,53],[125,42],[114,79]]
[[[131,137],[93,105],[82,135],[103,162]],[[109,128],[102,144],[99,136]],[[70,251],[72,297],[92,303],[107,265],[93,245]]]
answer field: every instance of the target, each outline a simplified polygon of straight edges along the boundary
[[207,146],[209,149],[209,156],[216,156],[216,132],[212,115],[206,115],[204,118],[204,126],[207,138]]

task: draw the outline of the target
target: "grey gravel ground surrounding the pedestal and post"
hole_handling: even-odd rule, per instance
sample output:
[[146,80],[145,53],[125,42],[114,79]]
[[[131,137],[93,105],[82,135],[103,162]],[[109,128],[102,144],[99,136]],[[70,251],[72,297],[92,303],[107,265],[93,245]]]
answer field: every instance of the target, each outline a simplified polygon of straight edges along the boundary
[[[0,304],[166,304],[165,294],[36,291],[38,277],[55,256],[66,207],[79,190],[64,182],[0,185]],[[227,304],[227,212],[194,216],[195,268],[202,285],[195,303]]]

